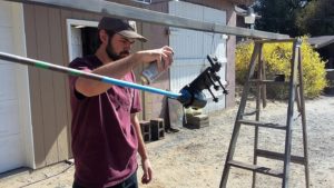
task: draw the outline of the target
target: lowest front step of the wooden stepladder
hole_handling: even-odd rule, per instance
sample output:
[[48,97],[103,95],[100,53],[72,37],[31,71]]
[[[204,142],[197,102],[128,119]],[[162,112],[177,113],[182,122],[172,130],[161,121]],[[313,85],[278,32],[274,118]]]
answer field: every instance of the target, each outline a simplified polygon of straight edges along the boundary
[[283,172],[271,169],[271,168],[267,168],[267,167],[261,167],[261,166],[256,166],[256,165],[244,164],[244,162],[235,161],[235,160],[228,161],[228,165],[233,166],[233,167],[242,168],[242,169],[245,169],[245,170],[252,170],[252,171],[255,171],[255,172],[259,172],[259,174],[263,174],[263,175],[269,175],[269,176],[273,176],[273,177],[283,178]]

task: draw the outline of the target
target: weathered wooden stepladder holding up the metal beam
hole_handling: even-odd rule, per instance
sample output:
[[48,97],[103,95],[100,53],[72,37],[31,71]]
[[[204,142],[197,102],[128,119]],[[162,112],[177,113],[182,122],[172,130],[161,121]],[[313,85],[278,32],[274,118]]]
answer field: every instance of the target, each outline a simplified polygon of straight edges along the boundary
[[[266,66],[263,61],[263,46],[265,43],[273,42],[292,42],[293,43],[293,56],[291,60],[291,77],[289,81],[277,81],[277,80],[266,80]],[[245,170],[253,171],[253,184],[252,187],[256,186],[256,174],[268,175],[272,177],[282,178],[282,188],[288,187],[288,175],[289,175],[289,164],[301,164],[305,166],[305,184],[310,187],[310,172],[308,172],[308,157],[307,157],[307,132],[306,132],[306,118],[305,118],[305,103],[304,103],[304,91],[303,91],[303,71],[302,71],[302,57],[301,57],[301,39],[287,39],[287,40],[256,40],[254,41],[255,47],[252,55],[248,75],[243,89],[243,95],[240,99],[240,105],[237,111],[236,121],[234,125],[234,130],[232,139],[229,142],[229,148],[225,161],[225,167],[220,180],[220,188],[225,188],[228,179],[228,174],[230,167],[240,168]],[[257,61],[257,79],[254,78],[254,70]],[[266,106],[266,85],[288,85],[288,103],[287,103],[287,119],[286,125],[278,125],[273,122],[259,121],[261,115],[261,102],[263,102],[263,108]],[[256,87],[256,109],[253,112],[246,113],[245,108],[248,100],[249,89],[252,86]],[[292,126],[294,123],[294,105],[297,103],[299,118],[302,120],[303,129],[303,148],[304,156],[292,156]],[[244,119],[246,116],[255,115],[255,120]],[[298,118],[298,119],[299,119]],[[254,126],[255,137],[254,137],[254,159],[253,164],[245,164],[242,161],[234,160],[234,154],[236,149],[236,142],[239,135],[242,126]],[[274,152],[269,150],[263,150],[258,148],[258,129],[259,128],[272,128],[285,130],[285,149],[284,152]],[[262,167],[257,165],[257,158],[263,157],[267,159],[275,159],[284,161],[283,170],[275,170],[267,167]]]

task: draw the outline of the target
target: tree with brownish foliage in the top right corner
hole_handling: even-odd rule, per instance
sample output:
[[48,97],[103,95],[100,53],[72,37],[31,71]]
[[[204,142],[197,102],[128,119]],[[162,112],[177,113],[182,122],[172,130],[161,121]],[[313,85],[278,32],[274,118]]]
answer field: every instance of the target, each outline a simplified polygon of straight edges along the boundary
[[334,34],[334,1],[314,0],[298,11],[296,26],[311,36]]

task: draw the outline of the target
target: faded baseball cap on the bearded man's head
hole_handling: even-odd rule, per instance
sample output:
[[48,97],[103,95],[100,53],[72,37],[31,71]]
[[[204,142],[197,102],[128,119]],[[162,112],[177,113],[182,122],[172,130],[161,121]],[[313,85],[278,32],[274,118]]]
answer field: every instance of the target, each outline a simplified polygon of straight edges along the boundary
[[145,37],[136,32],[128,21],[122,19],[104,17],[98,24],[98,29],[115,31],[116,33],[129,39],[138,39],[143,42],[147,41]]

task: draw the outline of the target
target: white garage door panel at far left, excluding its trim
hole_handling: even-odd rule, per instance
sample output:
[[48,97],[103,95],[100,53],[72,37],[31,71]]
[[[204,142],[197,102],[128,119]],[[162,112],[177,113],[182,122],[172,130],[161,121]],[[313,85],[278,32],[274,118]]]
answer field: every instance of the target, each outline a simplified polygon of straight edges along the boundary
[[[0,2],[0,51],[16,53],[18,31],[14,31],[14,6]],[[19,12],[16,12],[19,13]],[[17,39],[14,39],[17,37]],[[21,42],[22,44],[22,42]],[[19,81],[22,72],[19,66],[0,60],[0,172],[27,165],[27,155],[23,150],[23,115],[20,115]],[[27,80],[23,80],[27,82]]]

